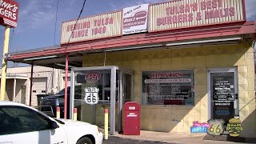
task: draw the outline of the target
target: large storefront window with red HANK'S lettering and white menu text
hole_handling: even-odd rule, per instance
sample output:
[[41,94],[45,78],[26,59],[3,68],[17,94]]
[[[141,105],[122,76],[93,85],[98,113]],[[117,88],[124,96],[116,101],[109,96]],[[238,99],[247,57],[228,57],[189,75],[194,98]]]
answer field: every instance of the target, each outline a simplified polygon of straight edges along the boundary
[[143,71],[142,104],[194,106],[194,70]]

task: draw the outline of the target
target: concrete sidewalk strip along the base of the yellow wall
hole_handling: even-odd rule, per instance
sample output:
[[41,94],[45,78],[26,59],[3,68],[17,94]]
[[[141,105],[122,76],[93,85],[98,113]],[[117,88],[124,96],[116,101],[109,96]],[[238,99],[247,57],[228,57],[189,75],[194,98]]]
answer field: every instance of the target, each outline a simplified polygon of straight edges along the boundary
[[136,140],[147,140],[147,141],[157,141],[157,142],[166,142],[166,143],[206,143],[206,144],[238,144],[241,142],[226,142],[226,141],[214,141],[214,140],[204,140],[203,138],[206,134],[181,134],[181,133],[164,133],[164,132],[154,132],[141,130],[140,135],[123,135],[115,134],[114,137],[119,138],[129,138]]

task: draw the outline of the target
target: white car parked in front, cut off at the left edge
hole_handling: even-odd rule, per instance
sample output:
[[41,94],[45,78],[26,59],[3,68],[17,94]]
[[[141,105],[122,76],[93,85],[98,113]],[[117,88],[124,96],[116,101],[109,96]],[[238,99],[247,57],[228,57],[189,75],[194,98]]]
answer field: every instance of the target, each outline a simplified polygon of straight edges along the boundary
[[0,144],[101,144],[98,126],[54,119],[16,102],[0,101]]

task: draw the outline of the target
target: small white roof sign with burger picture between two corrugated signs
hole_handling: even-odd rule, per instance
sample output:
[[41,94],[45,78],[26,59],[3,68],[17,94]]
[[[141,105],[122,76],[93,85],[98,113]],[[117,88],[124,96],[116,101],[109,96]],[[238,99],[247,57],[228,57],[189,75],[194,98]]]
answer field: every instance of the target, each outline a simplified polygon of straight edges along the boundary
[[147,31],[149,4],[123,9],[122,34],[135,34]]

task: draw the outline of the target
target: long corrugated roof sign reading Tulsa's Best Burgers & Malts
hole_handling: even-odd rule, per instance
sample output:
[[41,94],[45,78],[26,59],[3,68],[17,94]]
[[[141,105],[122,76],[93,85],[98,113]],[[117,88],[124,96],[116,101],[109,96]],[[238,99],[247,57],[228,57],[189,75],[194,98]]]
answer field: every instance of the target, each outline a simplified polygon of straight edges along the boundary
[[244,0],[180,0],[150,6],[149,31],[240,21],[246,21]]

